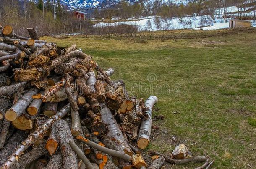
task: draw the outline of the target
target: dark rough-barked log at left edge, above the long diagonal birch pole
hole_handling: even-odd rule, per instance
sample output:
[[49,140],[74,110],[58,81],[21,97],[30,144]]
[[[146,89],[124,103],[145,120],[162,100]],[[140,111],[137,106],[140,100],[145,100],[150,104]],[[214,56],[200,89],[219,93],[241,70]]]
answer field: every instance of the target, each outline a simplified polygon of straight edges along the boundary
[[[26,138],[23,131],[17,131],[8,139],[3,149],[0,151],[0,166],[2,166],[15,148]],[[9,167],[10,168],[10,167]]]

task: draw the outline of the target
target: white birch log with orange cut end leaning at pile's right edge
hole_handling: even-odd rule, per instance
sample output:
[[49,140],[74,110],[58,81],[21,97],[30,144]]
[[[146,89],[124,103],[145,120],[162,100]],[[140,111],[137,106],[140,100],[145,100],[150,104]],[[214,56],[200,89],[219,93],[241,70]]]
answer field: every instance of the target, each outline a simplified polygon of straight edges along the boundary
[[141,127],[137,139],[137,146],[140,149],[145,149],[149,144],[149,138],[152,127],[152,111],[153,106],[157,103],[157,101],[158,99],[156,96],[150,96],[145,102],[145,106],[149,109],[148,111],[146,111],[146,114],[149,116],[149,119],[141,122]]

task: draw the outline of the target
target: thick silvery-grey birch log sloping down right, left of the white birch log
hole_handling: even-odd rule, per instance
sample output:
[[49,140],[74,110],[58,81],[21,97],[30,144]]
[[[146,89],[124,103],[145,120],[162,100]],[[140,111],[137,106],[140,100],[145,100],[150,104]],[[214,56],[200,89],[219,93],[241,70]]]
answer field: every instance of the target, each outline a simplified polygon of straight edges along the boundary
[[101,119],[103,123],[109,125],[108,126],[109,131],[107,133],[108,138],[115,139],[116,141],[118,141],[119,144],[122,145],[122,148],[123,148],[122,151],[124,151],[126,154],[131,156],[133,154],[132,150],[128,145],[128,143],[126,142],[123,136],[123,133],[118,127],[118,124],[115,121],[115,118],[113,117],[110,109],[107,108],[107,106],[102,105],[102,110],[100,111],[100,114],[101,114]]

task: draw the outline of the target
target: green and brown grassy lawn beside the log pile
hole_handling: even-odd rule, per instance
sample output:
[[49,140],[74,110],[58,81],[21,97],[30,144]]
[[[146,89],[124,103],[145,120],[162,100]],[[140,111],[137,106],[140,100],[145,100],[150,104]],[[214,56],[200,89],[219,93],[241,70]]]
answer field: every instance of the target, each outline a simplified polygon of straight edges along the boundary
[[[154,122],[146,153],[171,153],[184,143],[215,168],[256,168],[256,29],[177,30],[137,38],[44,37],[59,46],[77,44],[130,94],[156,95],[163,121]],[[166,168],[192,168],[200,164]]]

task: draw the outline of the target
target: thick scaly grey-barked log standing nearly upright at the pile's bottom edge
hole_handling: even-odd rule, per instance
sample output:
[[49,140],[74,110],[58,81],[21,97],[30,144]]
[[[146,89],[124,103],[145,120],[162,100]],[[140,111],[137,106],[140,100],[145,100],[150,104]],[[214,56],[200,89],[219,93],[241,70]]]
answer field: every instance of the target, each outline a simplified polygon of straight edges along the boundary
[[60,144],[60,151],[63,158],[63,169],[76,169],[76,154],[69,145],[69,142],[74,140],[69,129],[68,123],[64,120],[58,120],[55,123],[57,124],[57,139]]

